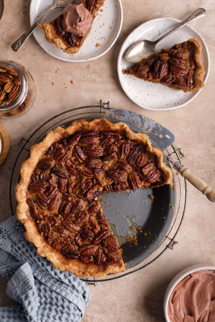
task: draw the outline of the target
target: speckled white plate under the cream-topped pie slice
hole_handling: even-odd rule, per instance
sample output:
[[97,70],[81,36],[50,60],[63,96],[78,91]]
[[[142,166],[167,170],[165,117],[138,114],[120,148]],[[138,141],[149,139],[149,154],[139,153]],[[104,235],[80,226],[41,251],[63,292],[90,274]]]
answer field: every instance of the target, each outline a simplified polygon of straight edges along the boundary
[[[52,5],[54,5],[54,0],[31,0],[31,25]],[[99,58],[108,52],[117,40],[122,28],[123,15],[121,0],[105,0],[101,9],[103,11],[99,11],[95,17],[91,33],[79,52],[74,55],[69,55],[58,49],[56,45],[48,43],[44,37],[44,30],[39,27],[34,30],[34,37],[48,54],[66,62],[85,62]],[[49,23],[59,14],[62,14],[63,10],[64,8],[53,10],[42,23]],[[100,44],[99,47],[96,47],[97,43]]]

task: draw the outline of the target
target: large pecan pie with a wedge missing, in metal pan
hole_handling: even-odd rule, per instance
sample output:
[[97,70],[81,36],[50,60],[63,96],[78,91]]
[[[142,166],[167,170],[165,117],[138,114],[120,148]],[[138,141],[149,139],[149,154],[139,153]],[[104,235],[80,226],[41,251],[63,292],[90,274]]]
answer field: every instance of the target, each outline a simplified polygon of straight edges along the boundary
[[102,212],[106,192],[172,185],[172,172],[148,137],[105,119],[58,127],[31,148],[16,186],[25,238],[54,267],[77,276],[125,270]]

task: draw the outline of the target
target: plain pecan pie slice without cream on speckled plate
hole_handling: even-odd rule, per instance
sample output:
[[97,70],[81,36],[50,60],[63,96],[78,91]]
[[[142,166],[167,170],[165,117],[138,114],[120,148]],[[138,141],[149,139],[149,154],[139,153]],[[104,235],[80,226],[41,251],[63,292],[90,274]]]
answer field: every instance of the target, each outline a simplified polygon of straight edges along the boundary
[[196,91],[204,86],[201,50],[200,41],[192,38],[175,44],[171,49],[162,49],[160,54],[155,52],[122,72],[184,92]]

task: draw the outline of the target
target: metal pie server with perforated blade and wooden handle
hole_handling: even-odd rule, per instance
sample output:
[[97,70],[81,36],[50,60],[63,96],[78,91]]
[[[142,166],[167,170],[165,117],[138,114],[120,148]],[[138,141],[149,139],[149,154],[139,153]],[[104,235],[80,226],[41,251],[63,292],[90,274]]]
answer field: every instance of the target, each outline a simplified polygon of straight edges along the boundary
[[[174,135],[162,125],[135,112],[125,109],[109,109],[107,114],[112,114],[113,118],[121,118],[122,121],[128,120],[136,127],[139,126],[144,133],[151,137],[162,151],[169,147],[175,140]],[[172,160],[171,156],[167,156],[167,159],[171,162],[173,168],[187,179],[191,185],[200,190],[202,194],[205,194],[211,202],[215,202],[215,190],[212,190],[209,185],[207,185],[186,166],[183,166],[180,162]]]

